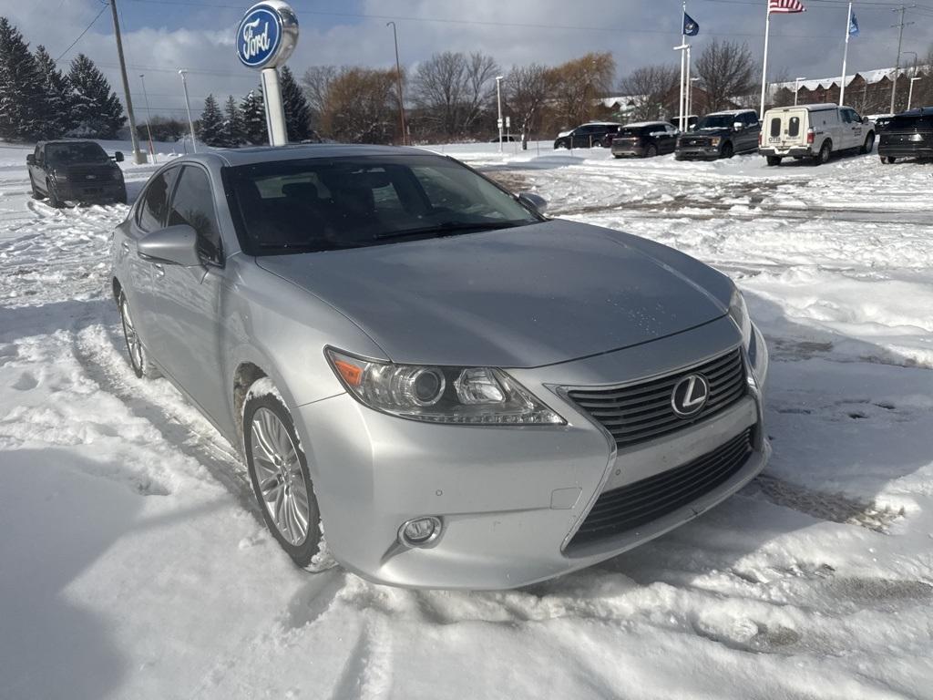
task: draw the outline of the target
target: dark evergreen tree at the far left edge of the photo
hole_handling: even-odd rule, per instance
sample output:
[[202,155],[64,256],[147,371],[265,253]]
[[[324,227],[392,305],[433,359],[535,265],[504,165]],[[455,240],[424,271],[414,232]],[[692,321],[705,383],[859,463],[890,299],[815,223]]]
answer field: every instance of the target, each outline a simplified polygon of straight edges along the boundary
[[35,139],[44,128],[42,77],[19,30],[0,17],[0,138]]

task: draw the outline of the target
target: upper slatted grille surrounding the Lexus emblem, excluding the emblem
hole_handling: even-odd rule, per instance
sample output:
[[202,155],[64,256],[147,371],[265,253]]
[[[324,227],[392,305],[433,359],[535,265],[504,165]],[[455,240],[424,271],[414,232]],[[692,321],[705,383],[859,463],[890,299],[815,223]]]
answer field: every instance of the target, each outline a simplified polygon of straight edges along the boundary
[[[671,406],[675,385],[688,374],[702,374],[709,383],[709,399],[703,410],[687,419]],[[742,353],[732,350],[699,367],[675,371],[659,379],[635,385],[600,389],[571,389],[567,396],[589,413],[615,438],[619,447],[654,440],[708,418],[745,396]]]

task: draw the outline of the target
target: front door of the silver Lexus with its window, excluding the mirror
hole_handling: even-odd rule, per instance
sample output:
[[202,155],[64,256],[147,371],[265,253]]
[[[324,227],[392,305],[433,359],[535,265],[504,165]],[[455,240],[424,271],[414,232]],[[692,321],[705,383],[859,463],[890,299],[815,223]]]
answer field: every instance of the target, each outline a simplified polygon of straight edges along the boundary
[[166,262],[156,268],[157,357],[188,396],[220,423],[227,415],[219,344],[226,288],[223,245],[210,175],[199,165],[182,168],[174,187],[166,225],[178,224],[188,224],[198,234],[203,264]]

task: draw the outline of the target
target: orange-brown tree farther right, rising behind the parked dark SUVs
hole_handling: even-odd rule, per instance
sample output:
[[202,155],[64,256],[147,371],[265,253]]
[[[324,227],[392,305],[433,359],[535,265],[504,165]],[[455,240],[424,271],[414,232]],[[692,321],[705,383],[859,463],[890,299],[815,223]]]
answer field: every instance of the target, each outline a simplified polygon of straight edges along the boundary
[[600,112],[598,97],[606,96],[615,75],[616,62],[608,51],[588,53],[550,69],[553,86],[552,127],[573,127]]

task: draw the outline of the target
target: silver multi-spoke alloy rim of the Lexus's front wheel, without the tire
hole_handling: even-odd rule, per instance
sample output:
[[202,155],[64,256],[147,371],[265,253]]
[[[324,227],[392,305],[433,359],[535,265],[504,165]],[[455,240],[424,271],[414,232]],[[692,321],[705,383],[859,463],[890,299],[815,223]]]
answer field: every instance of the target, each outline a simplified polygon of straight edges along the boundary
[[311,507],[295,443],[279,417],[264,407],[253,413],[250,437],[262,502],[279,534],[298,546],[308,537]]

